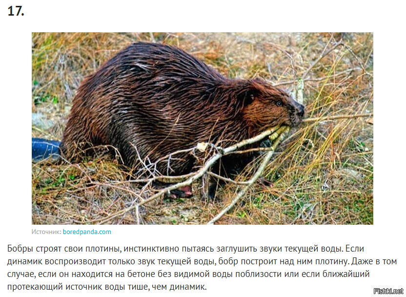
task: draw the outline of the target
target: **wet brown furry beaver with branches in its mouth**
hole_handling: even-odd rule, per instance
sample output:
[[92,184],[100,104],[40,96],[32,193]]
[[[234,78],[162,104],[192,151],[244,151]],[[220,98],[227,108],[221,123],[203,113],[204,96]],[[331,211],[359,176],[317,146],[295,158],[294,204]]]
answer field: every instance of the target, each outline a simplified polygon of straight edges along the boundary
[[[297,126],[303,116],[303,105],[262,79],[229,79],[177,47],[136,42],[83,80],[61,154],[72,160],[108,145],[129,170],[156,162],[159,173],[182,175],[196,165],[190,152],[157,161],[200,142],[226,147],[269,127]],[[253,157],[224,156],[213,170],[230,176]]]

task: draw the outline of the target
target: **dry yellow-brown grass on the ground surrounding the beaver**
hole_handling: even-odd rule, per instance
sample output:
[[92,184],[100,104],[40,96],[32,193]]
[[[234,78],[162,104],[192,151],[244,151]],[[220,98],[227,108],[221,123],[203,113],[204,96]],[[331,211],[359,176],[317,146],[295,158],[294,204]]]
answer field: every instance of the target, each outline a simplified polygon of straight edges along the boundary
[[[183,48],[228,77],[262,77],[289,82],[323,52],[330,38],[343,38],[316,64],[305,81],[308,117],[373,112],[373,35],[366,33],[157,33],[156,42]],[[33,33],[32,106],[52,127],[32,135],[61,139],[75,90],[83,77],[130,42],[151,41],[149,33]],[[287,89],[292,84],[282,85]],[[237,179],[246,180],[251,167]],[[220,224],[373,224],[373,126],[367,119],[301,126],[278,148],[267,166],[272,188],[256,185]],[[245,174],[245,176],[244,176]],[[193,185],[195,192],[199,184]],[[133,205],[141,186],[126,181],[108,156],[80,164],[32,165],[33,224],[91,223]],[[159,199],[139,210],[146,224],[203,224],[233,199],[226,185],[220,201],[199,195]],[[134,224],[129,212],[110,224]]]

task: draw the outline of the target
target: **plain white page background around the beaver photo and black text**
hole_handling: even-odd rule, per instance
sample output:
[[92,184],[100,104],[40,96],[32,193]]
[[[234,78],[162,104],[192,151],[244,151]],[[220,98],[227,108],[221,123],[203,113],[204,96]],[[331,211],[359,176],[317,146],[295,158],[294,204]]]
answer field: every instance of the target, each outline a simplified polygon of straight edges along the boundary
[[[259,1],[1,1],[1,287],[2,296],[30,294],[100,294],[110,291],[65,291],[67,284],[121,284],[119,296],[148,294],[165,296],[170,284],[205,284],[205,291],[176,291],[172,294],[217,296],[264,294],[265,296],[371,296],[373,288],[405,288],[405,47],[403,11],[391,1],[374,7],[372,2],[292,1],[266,4]],[[24,16],[9,17],[10,5],[22,5]],[[16,14],[16,10],[13,10]],[[30,98],[31,32],[180,32],[180,31],[359,31],[374,32],[375,131],[374,136],[374,225],[373,226],[32,226],[30,180]],[[111,230],[111,235],[34,235],[37,230]],[[17,246],[314,246],[319,253],[7,253],[7,245]],[[322,246],[364,246],[363,253],[321,253]],[[278,259],[272,266],[199,265],[170,267],[45,265],[7,266],[16,258],[105,258],[105,259],[192,259],[233,256],[235,258]],[[381,259],[380,265],[297,265],[296,259],[345,258]],[[295,266],[279,264],[279,259],[294,259]],[[384,265],[382,259],[396,259]],[[157,262],[157,261],[156,261]],[[193,262],[193,260],[192,260]],[[7,272],[85,272],[85,271],[210,271],[209,278],[15,278]],[[277,271],[280,278],[213,278],[212,272]],[[323,270],[364,272],[367,278],[326,278]],[[285,271],[300,277],[284,277]],[[301,277],[303,271],[320,272],[319,278]],[[233,276],[235,274],[233,273]],[[58,284],[63,290],[7,291],[8,284]],[[129,291],[127,284],[167,284],[167,291]]]

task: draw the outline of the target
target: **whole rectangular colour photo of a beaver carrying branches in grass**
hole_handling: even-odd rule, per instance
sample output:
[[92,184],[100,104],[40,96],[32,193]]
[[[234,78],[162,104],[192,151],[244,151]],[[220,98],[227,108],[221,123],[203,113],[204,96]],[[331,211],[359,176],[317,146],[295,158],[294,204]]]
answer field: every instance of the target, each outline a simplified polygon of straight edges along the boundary
[[33,225],[373,225],[373,33],[31,33]]

